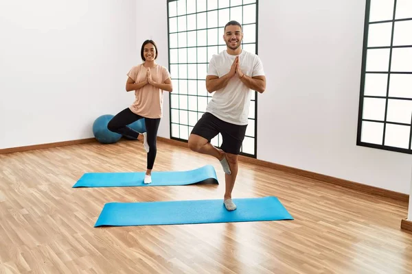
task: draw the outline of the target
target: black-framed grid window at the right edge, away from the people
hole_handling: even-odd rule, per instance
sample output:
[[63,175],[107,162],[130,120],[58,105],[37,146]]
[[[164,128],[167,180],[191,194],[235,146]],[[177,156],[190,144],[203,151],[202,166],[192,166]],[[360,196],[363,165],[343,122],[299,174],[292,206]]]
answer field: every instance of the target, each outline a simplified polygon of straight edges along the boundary
[[358,145],[412,153],[411,34],[411,0],[367,0]]

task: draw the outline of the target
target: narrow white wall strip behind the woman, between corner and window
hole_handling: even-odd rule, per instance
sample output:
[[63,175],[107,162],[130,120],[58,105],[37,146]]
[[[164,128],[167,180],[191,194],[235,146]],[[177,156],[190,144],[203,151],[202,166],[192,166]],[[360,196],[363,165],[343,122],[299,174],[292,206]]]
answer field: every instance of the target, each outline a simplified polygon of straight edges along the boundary
[[[166,1],[138,1],[136,6],[136,23],[139,56],[141,44],[145,40],[153,40],[159,51],[156,60],[157,64],[169,69],[168,6],[166,5]],[[140,64],[140,57],[138,61]],[[157,135],[170,138],[169,92],[163,92],[163,118],[161,119]]]

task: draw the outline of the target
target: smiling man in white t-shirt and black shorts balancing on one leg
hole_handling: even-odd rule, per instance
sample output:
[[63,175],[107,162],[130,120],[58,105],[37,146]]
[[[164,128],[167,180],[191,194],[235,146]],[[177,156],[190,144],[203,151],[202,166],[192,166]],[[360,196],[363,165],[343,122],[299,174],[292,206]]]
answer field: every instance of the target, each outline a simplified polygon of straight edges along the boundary
[[[189,147],[214,156],[222,164],[226,173],[223,201],[231,211],[236,210],[231,192],[238,175],[238,154],[246,134],[251,95],[253,90],[264,92],[266,77],[258,55],[240,47],[243,39],[240,23],[227,23],[223,39],[227,50],[211,58],[206,77],[207,91],[215,93],[190,134]],[[210,143],[219,133],[222,134],[221,150]]]

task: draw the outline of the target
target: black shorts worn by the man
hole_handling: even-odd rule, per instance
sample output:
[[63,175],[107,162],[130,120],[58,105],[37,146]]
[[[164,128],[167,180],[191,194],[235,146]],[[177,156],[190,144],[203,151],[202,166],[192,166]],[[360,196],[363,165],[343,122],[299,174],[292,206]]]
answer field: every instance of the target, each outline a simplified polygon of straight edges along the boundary
[[246,134],[246,128],[247,125],[227,123],[206,112],[194,126],[192,134],[202,136],[210,142],[220,133],[222,134],[222,151],[238,155]]

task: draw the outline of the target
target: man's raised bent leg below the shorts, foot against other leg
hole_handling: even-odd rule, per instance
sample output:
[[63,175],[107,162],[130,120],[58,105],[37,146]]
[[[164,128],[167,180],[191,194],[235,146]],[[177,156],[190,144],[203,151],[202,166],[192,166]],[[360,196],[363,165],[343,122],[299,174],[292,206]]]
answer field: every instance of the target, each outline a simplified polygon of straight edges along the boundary
[[214,147],[214,145],[211,145],[211,143],[209,143],[206,138],[203,138],[202,136],[198,136],[196,134],[190,134],[188,145],[192,151],[211,155],[214,158],[218,159],[220,164],[222,164],[223,171],[225,171],[226,175],[231,174],[231,169],[226,157],[226,153],[221,149],[216,149],[216,147]]

